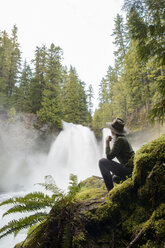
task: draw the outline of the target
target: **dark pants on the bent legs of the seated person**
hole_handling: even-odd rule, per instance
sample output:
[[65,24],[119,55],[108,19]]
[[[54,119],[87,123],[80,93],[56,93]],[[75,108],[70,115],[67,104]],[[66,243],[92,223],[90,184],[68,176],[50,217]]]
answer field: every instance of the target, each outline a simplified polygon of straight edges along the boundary
[[106,158],[99,160],[99,168],[108,191],[113,188],[113,181],[119,183],[132,174],[132,168]]

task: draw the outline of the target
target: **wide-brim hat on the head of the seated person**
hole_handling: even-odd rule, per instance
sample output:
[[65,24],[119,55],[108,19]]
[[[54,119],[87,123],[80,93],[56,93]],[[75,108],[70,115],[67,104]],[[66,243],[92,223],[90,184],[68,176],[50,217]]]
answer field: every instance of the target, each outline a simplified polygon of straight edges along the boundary
[[113,122],[106,122],[106,126],[115,134],[125,135],[128,133],[124,121],[120,118],[116,118]]

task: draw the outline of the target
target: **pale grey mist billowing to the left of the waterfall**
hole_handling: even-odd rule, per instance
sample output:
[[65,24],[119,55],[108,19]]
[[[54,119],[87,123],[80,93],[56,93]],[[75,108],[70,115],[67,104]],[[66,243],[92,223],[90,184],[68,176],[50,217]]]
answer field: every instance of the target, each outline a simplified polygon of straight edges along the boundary
[[50,139],[16,118],[0,122],[0,192],[27,189],[31,175],[44,164]]

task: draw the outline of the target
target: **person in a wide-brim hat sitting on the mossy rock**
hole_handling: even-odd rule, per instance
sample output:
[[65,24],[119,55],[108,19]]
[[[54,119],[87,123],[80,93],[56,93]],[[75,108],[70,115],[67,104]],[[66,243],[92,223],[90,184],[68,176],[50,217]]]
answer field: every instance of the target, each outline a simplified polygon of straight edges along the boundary
[[[127,130],[122,119],[116,118],[112,123],[107,123],[114,136],[114,144],[110,149],[110,141],[112,137],[106,138],[106,156],[99,161],[99,168],[103,176],[108,192],[113,188],[113,181],[119,183],[130,177],[133,171],[134,151],[131,144],[125,137]],[[112,159],[117,158],[118,162]]]

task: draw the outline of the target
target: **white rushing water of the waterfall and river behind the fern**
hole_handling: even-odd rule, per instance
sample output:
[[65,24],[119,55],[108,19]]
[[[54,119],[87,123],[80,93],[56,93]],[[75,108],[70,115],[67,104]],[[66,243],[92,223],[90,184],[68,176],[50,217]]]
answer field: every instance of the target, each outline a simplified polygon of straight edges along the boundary
[[[110,135],[109,130],[103,131]],[[104,142],[103,142],[104,144]],[[14,185],[19,185],[22,190],[0,195],[0,202],[10,197],[22,196],[28,191],[37,191],[34,184],[44,181],[44,176],[52,175],[57,186],[67,189],[69,175],[75,174],[81,181],[92,175],[100,175],[98,160],[103,156],[103,144],[98,144],[93,132],[81,125],[63,123],[63,130],[56,137],[48,155],[26,154],[16,151],[17,156],[12,154],[8,170],[4,173],[0,185],[3,189],[11,192]],[[0,207],[0,218],[8,207]],[[22,216],[22,215],[21,215]],[[0,228],[9,220],[17,219],[20,215],[14,214],[1,218]],[[14,239],[13,235],[0,240],[0,248],[13,248],[14,245],[26,237],[26,231],[21,231]]]

